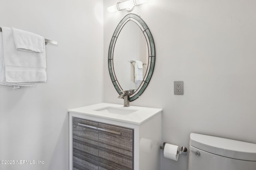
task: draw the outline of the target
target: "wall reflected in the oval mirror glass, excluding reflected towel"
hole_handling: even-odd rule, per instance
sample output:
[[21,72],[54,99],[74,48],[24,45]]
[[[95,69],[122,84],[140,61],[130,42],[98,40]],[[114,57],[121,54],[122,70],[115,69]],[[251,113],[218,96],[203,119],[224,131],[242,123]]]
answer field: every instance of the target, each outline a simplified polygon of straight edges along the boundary
[[116,40],[113,65],[116,78],[123,90],[137,89],[141,82],[134,82],[134,64],[130,61],[141,61],[143,77],[148,63],[148,45],[140,27],[134,21],[128,21]]

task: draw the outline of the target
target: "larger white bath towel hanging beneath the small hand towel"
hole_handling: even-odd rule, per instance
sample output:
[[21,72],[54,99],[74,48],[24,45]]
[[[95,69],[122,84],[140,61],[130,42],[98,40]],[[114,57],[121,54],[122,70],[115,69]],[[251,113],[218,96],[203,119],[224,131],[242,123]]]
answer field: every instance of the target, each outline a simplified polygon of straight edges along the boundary
[[[14,43],[11,28],[2,27],[4,44],[4,63],[6,82],[33,84],[31,82],[46,82],[46,53],[19,51]],[[44,44],[44,39],[43,42]]]

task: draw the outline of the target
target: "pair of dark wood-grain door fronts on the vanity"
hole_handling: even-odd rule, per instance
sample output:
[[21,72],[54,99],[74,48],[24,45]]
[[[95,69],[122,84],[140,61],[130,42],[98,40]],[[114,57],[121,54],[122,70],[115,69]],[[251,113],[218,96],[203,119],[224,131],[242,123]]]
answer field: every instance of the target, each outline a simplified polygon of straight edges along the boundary
[[73,170],[133,170],[133,129],[72,119]]

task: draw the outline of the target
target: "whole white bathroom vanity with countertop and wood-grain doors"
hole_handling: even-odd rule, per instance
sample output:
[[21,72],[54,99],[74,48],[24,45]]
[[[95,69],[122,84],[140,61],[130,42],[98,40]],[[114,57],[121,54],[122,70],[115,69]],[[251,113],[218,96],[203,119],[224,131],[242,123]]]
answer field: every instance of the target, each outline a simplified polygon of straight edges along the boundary
[[69,170],[161,169],[162,109],[100,103],[68,112]]

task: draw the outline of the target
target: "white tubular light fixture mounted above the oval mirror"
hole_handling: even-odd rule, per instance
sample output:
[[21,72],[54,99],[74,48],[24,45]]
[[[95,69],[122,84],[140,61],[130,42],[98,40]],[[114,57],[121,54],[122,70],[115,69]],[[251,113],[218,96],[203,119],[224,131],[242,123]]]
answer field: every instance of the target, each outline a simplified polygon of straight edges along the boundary
[[127,11],[133,10],[134,6],[139,4],[144,4],[148,2],[148,0],[128,0],[125,2],[117,2],[116,5],[108,7],[108,12],[116,12],[126,9]]

